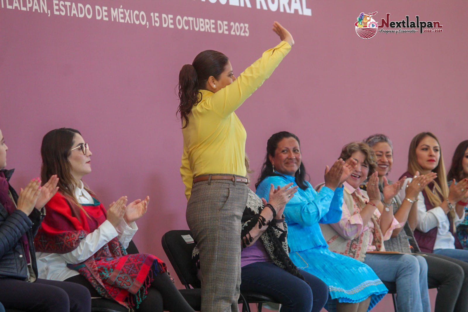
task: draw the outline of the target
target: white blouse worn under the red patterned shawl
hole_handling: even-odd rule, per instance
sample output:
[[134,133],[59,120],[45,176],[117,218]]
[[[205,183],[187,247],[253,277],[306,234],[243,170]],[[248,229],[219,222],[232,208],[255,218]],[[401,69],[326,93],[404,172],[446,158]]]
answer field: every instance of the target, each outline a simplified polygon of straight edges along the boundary
[[[83,182],[75,189],[75,198],[80,204],[94,203],[91,195],[84,189]],[[36,253],[39,278],[55,281],[65,281],[79,273],[66,267],[67,263],[78,264],[87,260],[112,238],[118,237],[120,243],[127,248],[138,227],[132,222],[127,225],[124,220],[117,229],[108,221],[104,221],[96,230],[80,241],[78,247],[69,253]]]

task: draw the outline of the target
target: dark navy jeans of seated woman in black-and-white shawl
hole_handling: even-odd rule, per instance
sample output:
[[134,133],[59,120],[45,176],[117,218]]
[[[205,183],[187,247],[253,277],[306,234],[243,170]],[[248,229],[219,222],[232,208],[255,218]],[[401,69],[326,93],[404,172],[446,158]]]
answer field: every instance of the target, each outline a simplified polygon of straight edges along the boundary
[[241,291],[275,298],[281,312],[319,312],[328,300],[328,286],[318,277],[299,270],[304,282],[271,262],[254,262],[242,267]]

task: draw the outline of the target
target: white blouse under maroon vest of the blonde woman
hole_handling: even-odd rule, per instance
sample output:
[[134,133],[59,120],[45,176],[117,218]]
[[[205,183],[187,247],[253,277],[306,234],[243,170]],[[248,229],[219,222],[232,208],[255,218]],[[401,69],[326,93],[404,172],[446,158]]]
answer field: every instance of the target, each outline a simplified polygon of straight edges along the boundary
[[[413,178],[406,178],[403,187],[398,193],[400,201],[405,199],[406,185],[411,182]],[[450,221],[448,221],[447,214],[442,207],[434,207],[431,210],[426,210],[424,203],[423,192],[417,195],[417,225],[416,228],[423,233],[437,227],[437,237],[434,244],[434,249],[455,249],[455,238],[450,233]],[[455,226],[459,225],[465,219],[465,211],[461,218],[455,214],[453,222]]]

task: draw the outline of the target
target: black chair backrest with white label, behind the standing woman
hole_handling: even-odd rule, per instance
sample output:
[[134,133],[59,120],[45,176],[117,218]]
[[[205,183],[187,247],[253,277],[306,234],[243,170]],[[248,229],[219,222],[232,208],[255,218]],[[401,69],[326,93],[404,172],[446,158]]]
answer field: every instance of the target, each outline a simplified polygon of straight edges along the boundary
[[[189,237],[190,235],[190,237]],[[197,266],[192,261],[192,251],[195,242],[190,230],[171,230],[162,236],[161,244],[169,258],[177,277],[185,288],[200,288],[201,282],[197,277]]]

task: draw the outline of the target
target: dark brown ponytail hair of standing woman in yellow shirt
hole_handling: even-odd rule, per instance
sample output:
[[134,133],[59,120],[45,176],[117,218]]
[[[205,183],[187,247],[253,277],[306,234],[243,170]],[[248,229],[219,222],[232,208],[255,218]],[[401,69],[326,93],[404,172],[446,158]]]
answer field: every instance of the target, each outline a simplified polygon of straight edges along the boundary
[[185,64],[179,72],[179,107],[182,128],[189,125],[188,114],[201,100],[199,89],[205,89],[210,76],[216,80],[224,72],[229,59],[221,52],[205,50],[198,53],[192,64]]

